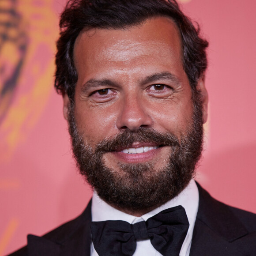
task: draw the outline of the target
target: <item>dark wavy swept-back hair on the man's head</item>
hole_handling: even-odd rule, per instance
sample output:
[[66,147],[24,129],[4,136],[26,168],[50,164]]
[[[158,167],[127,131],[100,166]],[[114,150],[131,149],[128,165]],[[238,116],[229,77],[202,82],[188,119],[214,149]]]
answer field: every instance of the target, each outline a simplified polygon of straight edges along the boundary
[[194,90],[207,68],[208,42],[200,38],[200,29],[192,24],[176,0],[69,0],[60,18],[57,41],[55,88],[74,98],[77,72],[73,60],[75,39],[83,29],[120,29],[141,24],[145,19],[166,16],[181,34],[183,68]]

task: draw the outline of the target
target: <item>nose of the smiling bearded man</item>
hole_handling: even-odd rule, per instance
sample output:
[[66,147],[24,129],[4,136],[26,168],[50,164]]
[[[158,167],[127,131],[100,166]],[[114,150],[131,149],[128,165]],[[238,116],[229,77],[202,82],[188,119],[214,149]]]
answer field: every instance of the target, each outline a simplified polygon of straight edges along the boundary
[[130,95],[121,103],[120,114],[117,118],[117,128],[128,128],[131,131],[136,131],[140,127],[151,127],[153,122],[148,112],[141,98]]

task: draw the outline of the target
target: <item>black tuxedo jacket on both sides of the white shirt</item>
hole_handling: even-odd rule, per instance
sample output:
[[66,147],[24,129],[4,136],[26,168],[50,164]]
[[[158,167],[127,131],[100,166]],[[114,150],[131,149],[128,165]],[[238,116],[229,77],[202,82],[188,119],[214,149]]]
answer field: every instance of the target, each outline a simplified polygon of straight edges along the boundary
[[[256,215],[218,202],[199,184],[198,189],[190,256],[256,256]],[[43,237],[28,235],[28,245],[11,256],[90,256],[90,222],[91,203]]]

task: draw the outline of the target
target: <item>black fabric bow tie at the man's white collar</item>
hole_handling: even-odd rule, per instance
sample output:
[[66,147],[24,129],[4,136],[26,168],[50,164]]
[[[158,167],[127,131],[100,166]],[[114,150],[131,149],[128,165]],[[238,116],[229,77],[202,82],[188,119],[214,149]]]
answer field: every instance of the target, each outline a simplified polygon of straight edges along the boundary
[[133,225],[121,220],[92,222],[91,233],[99,256],[133,255],[136,241],[144,239],[162,255],[178,256],[188,227],[185,209],[179,205]]

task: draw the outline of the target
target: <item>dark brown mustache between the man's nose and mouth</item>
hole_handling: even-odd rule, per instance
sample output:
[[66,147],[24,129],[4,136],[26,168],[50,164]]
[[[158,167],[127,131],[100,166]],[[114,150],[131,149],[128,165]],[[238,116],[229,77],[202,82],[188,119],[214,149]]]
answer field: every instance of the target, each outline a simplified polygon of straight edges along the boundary
[[120,148],[128,148],[134,142],[155,143],[159,146],[180,146],[179,139],[172,133],[161,133],[153,128],[139,128],[136,132],[126,129],[112,138],[103,139],[95,146],[95,153],[106,153],[117,151]]

